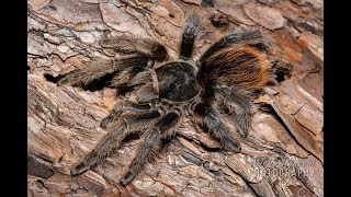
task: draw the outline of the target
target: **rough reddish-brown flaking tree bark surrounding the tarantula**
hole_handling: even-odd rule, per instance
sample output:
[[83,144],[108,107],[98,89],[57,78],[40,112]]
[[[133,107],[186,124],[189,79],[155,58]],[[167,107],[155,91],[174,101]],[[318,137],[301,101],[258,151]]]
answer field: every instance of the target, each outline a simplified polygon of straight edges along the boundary
[[[261,30],[270,44],[279,83],[256,101],[242,152],[218,149],[184,120],[125,187],[118,179],[138,139],[70,176],[106,134],[99,124],[118,97],[57,86],[54,77],[104,57],[106,31],[154,38],[174,58],[192,11],[202,19],[194,58],[233,28]],[[324,196],[322,12],[322,0],[29,0],[29,196]]]

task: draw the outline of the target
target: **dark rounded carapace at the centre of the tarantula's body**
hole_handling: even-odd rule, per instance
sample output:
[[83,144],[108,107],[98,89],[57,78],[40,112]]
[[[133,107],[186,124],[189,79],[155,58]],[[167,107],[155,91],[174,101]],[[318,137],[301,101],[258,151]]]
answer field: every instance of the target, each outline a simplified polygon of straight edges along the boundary
[[195,69],[188,62],[168,62],[157,68],[156,74],[162,99],[183,102],[199,94]]

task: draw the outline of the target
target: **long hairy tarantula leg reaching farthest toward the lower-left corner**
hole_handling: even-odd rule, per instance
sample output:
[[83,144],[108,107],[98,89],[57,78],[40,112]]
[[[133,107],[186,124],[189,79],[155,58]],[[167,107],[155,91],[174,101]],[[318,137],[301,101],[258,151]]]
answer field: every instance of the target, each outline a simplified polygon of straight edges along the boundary
[[70,174],[77,175],[86,172],[98,163],[102,162],[110,153],[112,153],[122,140],[129,134],[143,130],[143,126],[149,127],[148,124],[160,114],[157,111],[151,111],[140,115],[126,117],[114,123],[109,134],[99,142],[97,148],[88,153],[84,159],[71,169]]

